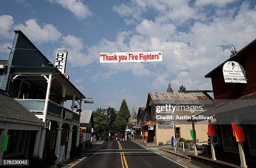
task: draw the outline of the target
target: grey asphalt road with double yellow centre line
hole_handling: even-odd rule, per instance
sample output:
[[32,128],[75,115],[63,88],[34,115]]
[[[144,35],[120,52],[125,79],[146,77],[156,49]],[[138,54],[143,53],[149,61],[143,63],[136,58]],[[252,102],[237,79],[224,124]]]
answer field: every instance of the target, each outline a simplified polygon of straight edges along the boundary
[[184,168],[168,156],[133,141],[102,141],[82,154],[72,168]]

